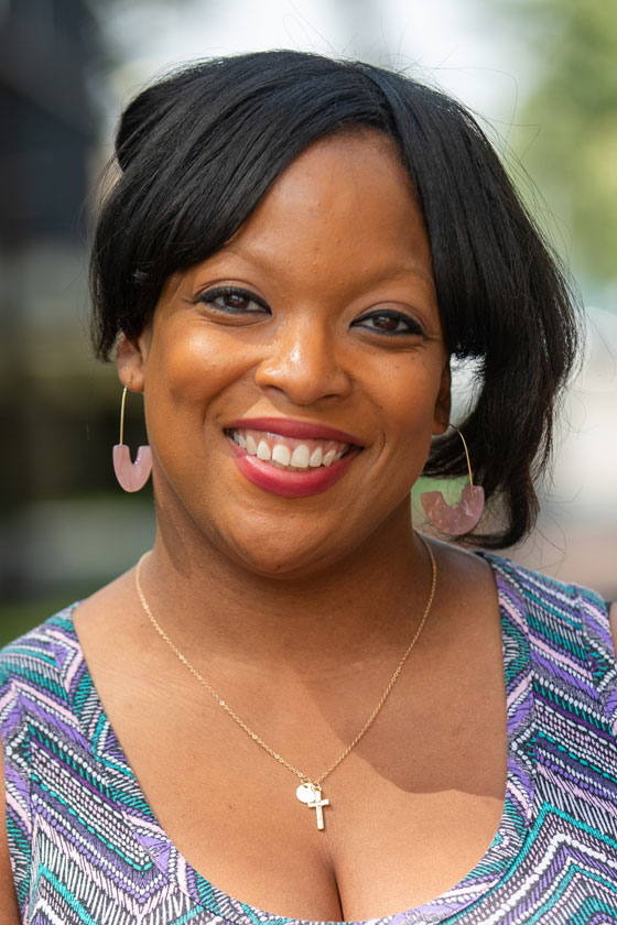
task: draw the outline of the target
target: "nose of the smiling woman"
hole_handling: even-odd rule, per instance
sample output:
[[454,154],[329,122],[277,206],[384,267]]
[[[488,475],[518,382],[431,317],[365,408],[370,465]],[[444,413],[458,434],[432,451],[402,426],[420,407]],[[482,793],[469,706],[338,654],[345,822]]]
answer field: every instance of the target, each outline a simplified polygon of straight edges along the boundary
[[351,378],[343,348],[328,326],[314,317],[281,325],[259,363],[255,381],[275,389],[297,405],[327,398],[345,398]]

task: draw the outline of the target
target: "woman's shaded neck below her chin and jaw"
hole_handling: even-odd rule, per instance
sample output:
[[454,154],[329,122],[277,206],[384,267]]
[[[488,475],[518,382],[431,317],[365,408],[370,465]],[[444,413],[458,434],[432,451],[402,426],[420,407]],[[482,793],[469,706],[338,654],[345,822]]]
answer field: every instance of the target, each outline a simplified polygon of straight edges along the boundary
[[409,505],[344,559],[315,574],[256,575],[212,543],[160,530],[141,580],[178,646],[271,670],[340,671],[404,650],[431,588],[431,564]]

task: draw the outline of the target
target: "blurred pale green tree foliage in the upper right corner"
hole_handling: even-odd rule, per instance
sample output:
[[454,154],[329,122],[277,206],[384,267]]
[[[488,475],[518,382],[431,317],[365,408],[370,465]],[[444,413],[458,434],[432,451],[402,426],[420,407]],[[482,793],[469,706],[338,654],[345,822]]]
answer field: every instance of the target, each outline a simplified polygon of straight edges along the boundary
[[575,272],[616,282],[617,3],[490,0],[492,13],[496,6],[524,40],[532,72],[510,144],[565,222]]

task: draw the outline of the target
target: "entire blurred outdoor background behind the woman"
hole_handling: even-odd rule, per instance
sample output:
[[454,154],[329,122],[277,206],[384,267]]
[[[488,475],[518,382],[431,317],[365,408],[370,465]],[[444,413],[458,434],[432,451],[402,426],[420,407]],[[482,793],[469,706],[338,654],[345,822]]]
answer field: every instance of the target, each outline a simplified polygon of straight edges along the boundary
[[[171,64],[272,47],[409,70],[488,131],[587,328],[538,530],[509,554],[617,598],[617,4],[0,0],[0,642],[154,535],[150,492],[115,482],[120,388],[88,344],[88,228],[119,111]],[[468,382],[459,369],[459,401]],[[127,410],[134,448],[140,402]]]

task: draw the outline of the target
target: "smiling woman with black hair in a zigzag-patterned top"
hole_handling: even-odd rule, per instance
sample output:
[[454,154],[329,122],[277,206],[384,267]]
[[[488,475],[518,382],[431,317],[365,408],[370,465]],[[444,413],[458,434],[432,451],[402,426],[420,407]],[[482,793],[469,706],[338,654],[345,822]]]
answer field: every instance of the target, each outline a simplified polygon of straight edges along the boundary
[[529,530],[574,356],[477,124],[272,52],[145,90],[117,154],[95,339],[158,534],[2,656],[8,921],[617,921],[606,608],[411,520],[421,472],[467,472],[456,355],[491,512],[454,529]]

